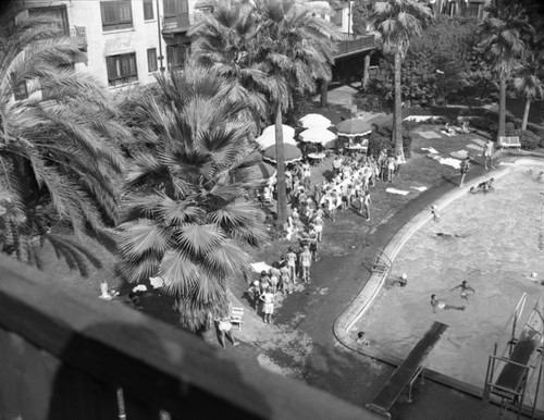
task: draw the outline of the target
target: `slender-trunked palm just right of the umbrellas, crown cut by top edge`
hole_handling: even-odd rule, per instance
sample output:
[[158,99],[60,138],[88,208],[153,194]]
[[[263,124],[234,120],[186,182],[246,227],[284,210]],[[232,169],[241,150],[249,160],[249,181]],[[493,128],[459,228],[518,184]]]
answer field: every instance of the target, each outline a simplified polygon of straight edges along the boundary
[[423,26],[433,17],[426,3],[417,0],[387,0],[374,4],[372,21],[374,28],[381,34],[383,50],[393,54],[394,75],[394,110],[393,139],[396,152],[403,150],[403,98],[400,74],[403,60],[413,37],[421,36]]

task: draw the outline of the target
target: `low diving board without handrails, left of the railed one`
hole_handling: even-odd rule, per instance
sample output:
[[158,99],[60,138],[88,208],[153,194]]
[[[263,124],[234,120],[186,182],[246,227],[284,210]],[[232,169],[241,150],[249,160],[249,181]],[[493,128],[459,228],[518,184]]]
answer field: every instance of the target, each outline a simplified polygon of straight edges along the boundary
[[408,386],[408,403],[411,403],[411,387],[413,382],[421,375],[423,381],[423,362],[433,347],[436,345],[442,334],[448,325],[434,322],[425,335],[416,344],[408,357],[393,372],[384,387],[374,397],[374,400],[367,404],[370,410],[391,418],[390,409],[398,399],[403,391]]

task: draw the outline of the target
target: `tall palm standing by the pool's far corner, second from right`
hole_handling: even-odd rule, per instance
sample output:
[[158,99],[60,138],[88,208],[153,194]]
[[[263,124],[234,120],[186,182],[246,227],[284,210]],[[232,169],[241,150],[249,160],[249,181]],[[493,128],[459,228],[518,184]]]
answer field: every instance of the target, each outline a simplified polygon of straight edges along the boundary
[[506,82],[526,50],[526,40],[533,33],[522,2],[496,0],[485,7],[487,13],[480,24],[481,47],[490,60],[492,72],[498,77],[498,138],[505,135]]

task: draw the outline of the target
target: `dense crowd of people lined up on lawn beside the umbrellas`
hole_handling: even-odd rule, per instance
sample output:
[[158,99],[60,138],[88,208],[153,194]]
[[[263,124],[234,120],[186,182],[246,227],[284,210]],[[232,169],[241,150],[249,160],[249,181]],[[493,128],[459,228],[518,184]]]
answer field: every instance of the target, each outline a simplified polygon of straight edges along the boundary
[[[329,178],[312,183],[308,161],[287,165],[285,171],[289,215],[285,230],[287,239],[297,240],[287,252],[274,261],[272,268],[260,273],[248,291],[255,309],[262,309],[264,322],[272,322],[277,293],[290,294],[298,283],[311,282],[311,265],[318,261],[319,244],[323,242],[325,219],[335,221],[337,213],[354,209],[370,220],[372,199],[370,189],[376,180],[392,183],[405,163],[401,153],[394,156],[383,149],[378,158],[371,156],[336,155]],[[271,202],[274,183],[268,184],[261,195]]]

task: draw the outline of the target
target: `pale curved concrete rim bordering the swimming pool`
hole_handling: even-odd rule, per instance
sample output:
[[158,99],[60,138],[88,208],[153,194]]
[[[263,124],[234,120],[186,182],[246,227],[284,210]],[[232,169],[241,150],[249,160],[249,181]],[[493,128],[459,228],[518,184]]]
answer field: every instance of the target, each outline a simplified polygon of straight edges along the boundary
[[[541,158],[540,156],[534,156],[534,157]],[[433,202],[430,202],[430,205],[436,206],[438,211],[441,211],[445,209],[447,206],[449,206],[457,198],[466,195],[471,186],[478,185],[480,182],[489,180],[492,176],[495,178],[500,178],[506,174],[508,174],[511,171],[511,169],[517,164],[524,164],[524,163],[543,164],[544,160],[542,159],[535,160],[532,159],[531,156],[508,159],[507,161],[503,162],[495,171],[486,172],[485,175],[481,175],[477,178],[471,180],[462,188],[455,188],[454,190],[449,190],[442,197],[435,199]],[[406,223],[397,231],[397,233],[392,237],[392,239],[384,248],[384,252],[387,255],[387,257],[391,258],[393,263],[395,257],[397,256],[403,245],[405,245],[405,243],[410,238],[410,236],[415,232],[417,232],[421,226],[423,226],[431,218],[432,214],[430,210],[426,208],[420,211],[413,218],[411,218],[408,223]],[[359,295],[351,301],[349,307],[336,320],[333,331],[336,338],[347,348],[357,351],[359,354],[364,354],[369,357],[386,362],[388,365],[398,366],[403,361],[398,357],[394,357],[387,354],[373,354],[372,349],[362,350],[360,346],[356,344],[355,342],[356,334],[351,331],[351,329],[358,322],[358,320],[360,320],[369,310],[369,308],[372,306],[374,299],[382,289],[385,280],[387,279],[387,275],[390,273],[391,271],[385,273],[373,273],[370,276],[364,288],[359,293]],[[444,375],[440,372],[430,370],[425,370],[425,372],[426,372],[425,376],[438,383],[442,383],[446,386],[450,386],[455,390],[473,395],[475,397],[482,396],[483,390],[481,387],[477,387],[468,383],[458,381],[456,379]]]

